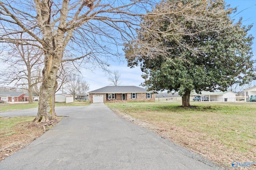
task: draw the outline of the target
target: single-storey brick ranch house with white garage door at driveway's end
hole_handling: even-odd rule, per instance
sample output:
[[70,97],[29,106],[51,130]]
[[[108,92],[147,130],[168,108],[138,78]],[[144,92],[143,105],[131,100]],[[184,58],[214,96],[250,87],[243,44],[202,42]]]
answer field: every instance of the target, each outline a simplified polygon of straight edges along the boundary
[[155,102],[155,94],[137,86],[106,86],[89,92],[89,102]]

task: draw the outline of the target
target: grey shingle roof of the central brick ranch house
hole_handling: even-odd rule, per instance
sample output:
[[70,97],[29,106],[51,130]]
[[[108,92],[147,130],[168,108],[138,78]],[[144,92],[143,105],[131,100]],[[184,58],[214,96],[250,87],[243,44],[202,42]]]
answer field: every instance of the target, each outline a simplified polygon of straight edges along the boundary
[[103,88],[99,88],[97,90],[93,90],[90,93],[146,93],[152,92],[147,91],[145,88],[137,87],[137,86],[106,86]]

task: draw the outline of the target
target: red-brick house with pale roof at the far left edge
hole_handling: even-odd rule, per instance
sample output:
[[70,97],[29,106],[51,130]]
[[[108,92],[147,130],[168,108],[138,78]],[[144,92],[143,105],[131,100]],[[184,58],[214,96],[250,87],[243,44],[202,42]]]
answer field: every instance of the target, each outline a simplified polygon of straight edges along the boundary
[[0,92],[0,100],[5,102],[24,102],[26,92]]

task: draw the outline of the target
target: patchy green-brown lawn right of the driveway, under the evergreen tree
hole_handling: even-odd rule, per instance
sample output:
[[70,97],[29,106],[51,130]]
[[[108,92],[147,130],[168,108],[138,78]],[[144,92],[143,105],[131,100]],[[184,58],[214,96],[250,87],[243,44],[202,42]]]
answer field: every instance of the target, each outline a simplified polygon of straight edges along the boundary
[[158,127],[170,140],[219,164],[256,161],[256,103],[138,102],[106,104]]

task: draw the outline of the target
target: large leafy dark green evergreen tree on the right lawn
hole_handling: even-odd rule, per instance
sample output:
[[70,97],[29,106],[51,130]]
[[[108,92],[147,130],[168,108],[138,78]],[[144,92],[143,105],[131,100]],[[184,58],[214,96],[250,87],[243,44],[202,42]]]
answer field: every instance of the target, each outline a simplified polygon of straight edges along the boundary
[[141,66],[149,90],[178,91],[183,106],[190,106],[192,90],[225,91],[253,80],[252,25],[234,23],[235,10],[225,9],[223,0],[162,2],[154,13],[166,14],[141,23],[156,31],[140,29],[126,44],[128,66]]

